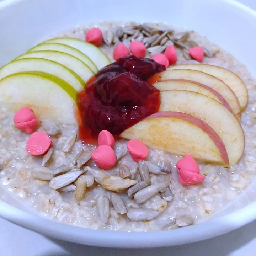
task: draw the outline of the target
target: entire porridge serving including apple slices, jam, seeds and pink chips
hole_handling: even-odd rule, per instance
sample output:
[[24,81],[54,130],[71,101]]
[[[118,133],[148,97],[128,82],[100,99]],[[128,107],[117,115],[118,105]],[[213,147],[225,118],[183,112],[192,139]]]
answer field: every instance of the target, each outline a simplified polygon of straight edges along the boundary
[[[93,27],[0,69],[1,186],[52,220],[119,231],[191,225],[242,193],[255,175],[246,67],[194,31],[98,23],[101,43]],[[9,92],[23,80],[27,90]],[[32,112],[21,120],[19,109]]]

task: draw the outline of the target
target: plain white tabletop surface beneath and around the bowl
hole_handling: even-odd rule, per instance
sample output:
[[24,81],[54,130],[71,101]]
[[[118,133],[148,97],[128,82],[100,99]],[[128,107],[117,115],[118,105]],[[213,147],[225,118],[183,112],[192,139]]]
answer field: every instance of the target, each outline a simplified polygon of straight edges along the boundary
[[[2,0],[0,0],[2,1]],[[193,1],[193,0],[191,0]],[[207,1],[207,0],[206,0]],[[256,10],[255,0],[239,2]],[[52,240],[0,218],[0,256],[255,256],[256,221],[229,234],[161,249],[106,249]]]

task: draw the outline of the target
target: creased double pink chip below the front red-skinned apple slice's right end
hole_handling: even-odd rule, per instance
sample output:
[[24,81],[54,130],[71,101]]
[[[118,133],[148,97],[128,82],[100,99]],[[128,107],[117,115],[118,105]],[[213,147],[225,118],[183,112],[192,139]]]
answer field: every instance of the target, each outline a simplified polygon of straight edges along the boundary
[[205,176],[199,173],[199,166],[191,155],[184,156],[177,162],[176,167],[182,185],[196,185],[205,179]]

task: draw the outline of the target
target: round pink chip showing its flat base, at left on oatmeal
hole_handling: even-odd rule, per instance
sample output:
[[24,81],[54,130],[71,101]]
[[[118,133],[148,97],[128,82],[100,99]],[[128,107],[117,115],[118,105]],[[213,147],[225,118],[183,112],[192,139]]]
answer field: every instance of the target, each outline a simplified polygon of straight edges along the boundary
[[31,155],[43,155],[46,153],[52,144],[52,140],[45,132],[35,132],[28,138],[27,152]]

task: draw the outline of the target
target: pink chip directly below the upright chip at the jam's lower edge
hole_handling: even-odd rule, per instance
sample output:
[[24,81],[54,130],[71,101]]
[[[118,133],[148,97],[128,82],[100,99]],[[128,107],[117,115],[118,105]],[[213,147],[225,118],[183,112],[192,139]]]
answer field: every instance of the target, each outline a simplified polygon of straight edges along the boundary
[[92,152],[92,159],[101,169],[107,170],[116,164],[116,155],[114,150],[107,145],[98,146]]

